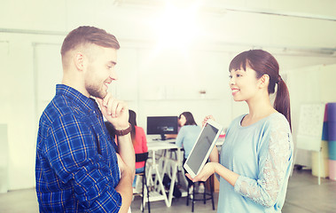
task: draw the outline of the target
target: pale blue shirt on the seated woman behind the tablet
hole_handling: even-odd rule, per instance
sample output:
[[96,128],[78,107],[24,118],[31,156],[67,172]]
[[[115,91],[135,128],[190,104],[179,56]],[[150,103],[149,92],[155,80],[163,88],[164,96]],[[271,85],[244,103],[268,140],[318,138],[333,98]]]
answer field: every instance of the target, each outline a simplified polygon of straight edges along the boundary
[[187,159],[193,145],[199,137],[201,128],[196,125],[184,125],[176,137],[176,145],[184,148],[184,158]]

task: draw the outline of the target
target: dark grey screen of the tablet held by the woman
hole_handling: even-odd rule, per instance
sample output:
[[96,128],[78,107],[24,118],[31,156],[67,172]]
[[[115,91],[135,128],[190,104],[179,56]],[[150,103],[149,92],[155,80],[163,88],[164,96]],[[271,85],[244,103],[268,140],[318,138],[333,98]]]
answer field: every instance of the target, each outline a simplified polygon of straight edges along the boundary
[[201,166],[204,158],[210,149],[218,129],[213,127],[211,124],[207,123],[203,131],[199,135],[199,139],[196,141],[191,154],[189,154],[188,160],[185,162],[189,165],[190,169],[197,174],[199,167]]

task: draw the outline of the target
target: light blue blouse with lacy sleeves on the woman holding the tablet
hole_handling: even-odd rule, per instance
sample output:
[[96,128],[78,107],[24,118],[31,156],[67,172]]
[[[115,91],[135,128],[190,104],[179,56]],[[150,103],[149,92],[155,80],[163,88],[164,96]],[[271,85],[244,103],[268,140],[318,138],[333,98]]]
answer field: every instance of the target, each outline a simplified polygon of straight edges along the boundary
[[283,114],[249,126],[246,114],[227,130],[220,163],[238,175],[235,186],[220,177],[218,212],[281,212],[293,163],[293,139]]

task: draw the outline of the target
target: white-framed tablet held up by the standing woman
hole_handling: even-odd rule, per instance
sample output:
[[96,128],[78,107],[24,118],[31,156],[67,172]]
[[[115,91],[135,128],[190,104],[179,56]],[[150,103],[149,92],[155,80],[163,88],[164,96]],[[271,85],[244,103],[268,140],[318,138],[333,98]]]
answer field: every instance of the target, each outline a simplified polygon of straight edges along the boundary
[[197,176],[206,164],[215,146],[215,141],[222,130],[223,127],[212,120],[207,120],[207,123],[203,126],[199,133],[199,138],[197,138],[196,143],[191,149],[191,153],[184,163],[184,169],[187,170],[192,178]]

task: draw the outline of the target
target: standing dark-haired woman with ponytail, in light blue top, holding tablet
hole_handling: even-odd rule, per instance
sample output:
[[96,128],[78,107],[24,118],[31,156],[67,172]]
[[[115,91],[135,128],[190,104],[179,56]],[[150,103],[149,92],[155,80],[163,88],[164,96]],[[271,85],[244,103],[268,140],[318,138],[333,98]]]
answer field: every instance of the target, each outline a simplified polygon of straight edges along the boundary
[[[246,101],[249,113],[231,122],[220,162],[214,148],[211,162],[192,179],[220,177],[218,212],[281,212],[284,205],[293,140],[289,93],[278,70],[277,60],[262,50],[241,52],[231,61],[232,97]],[[270,94],[276,85],[273,107]]]

